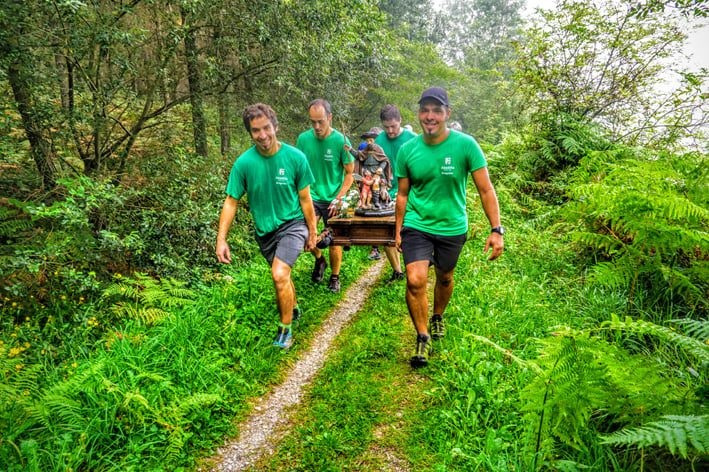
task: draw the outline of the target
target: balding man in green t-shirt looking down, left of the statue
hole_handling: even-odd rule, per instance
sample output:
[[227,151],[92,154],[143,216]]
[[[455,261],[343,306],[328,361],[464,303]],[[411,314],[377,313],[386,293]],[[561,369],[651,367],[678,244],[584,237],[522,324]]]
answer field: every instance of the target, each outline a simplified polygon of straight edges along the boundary
[[[308,105],[311,129],[298,136],[295,146],[308,158],[315,182],[310,186],[316,218],[327,221],[337,213],[337,205],[345,196],[354,180],[354,157],[347,151],[350,141],[332,127],[332,107],[327,100],[318,98]],[[310,251],[315,256],[313,282],[320,282],[325,274],[327,262],[320,248]],[[340,266],[342,246],[331,246],[330,281],[328,289],[340,291]]]

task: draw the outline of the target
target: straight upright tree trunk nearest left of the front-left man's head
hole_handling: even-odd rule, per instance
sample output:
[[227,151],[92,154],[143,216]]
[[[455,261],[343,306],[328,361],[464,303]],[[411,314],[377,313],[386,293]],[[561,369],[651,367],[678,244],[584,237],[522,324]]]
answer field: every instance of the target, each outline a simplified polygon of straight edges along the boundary
[[202,76],[199,69],[199,53],[194,30],[187,25],[187,12],[182,10],[182,25],[185,28],[185,57],[187,60],[187,80],[192,107],[192,131],[195,152],[207,157],[207,125],[202,102]]

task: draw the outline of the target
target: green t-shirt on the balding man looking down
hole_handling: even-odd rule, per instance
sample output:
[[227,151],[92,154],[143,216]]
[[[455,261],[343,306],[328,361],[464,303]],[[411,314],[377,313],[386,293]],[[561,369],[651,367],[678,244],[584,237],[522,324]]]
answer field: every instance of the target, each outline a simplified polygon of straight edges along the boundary
[[345,178],[343,166],[354,161],[345,144],[350,146],[349,139],[334,128],[325,139],[318,139],[312,128],[298,136],[295,146],[305,153],[315,178],[310,186],[313,200],[331,202],[340,191]]

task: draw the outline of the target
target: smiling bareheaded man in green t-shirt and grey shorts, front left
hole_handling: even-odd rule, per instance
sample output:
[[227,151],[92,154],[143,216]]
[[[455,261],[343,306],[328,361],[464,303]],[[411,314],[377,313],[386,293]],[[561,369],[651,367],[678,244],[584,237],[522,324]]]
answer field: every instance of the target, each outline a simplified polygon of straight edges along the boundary
[[295,147],[276,138],[278,118],[270,106],[251,105],[243,113],[244,126],[254,145],[232,166],[226,199],[219,217],[217,259],[231,263],[226,241],[236,216],[238,200],[246,194],[256,226],[256,242],[271,266],[280,323],[273,341],[287,349],[293,343],[292,322],[300,315],[291,268],[303,249],[315,247],[317,238],[308,161]]

